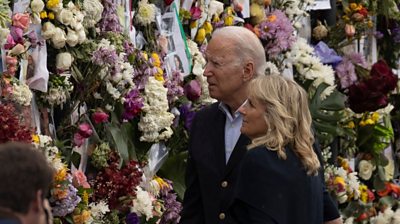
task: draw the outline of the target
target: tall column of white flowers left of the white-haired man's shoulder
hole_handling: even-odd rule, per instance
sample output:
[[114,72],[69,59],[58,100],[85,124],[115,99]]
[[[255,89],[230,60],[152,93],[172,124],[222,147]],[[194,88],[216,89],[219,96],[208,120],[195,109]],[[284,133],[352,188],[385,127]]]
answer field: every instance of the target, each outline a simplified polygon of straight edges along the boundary
[[144,91],[144,114],[139,121],[139,130],[143,132],[140,141],[158,142],[167,140],[173,134],[171,125],[174,115],[168,112],[167,91],[162,82],[149,77]]

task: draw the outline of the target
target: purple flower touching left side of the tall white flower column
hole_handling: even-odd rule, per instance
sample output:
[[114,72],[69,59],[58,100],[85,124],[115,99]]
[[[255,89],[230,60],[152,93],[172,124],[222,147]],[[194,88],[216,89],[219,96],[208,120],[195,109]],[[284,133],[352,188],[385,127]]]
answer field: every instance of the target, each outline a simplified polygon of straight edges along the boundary
[[134,117],[139,115],[143,107],[143,98],[139,94],[138,89],[131,90],[125,96],[124,102],[124,113],[122,114],[122,119],[132,120]]

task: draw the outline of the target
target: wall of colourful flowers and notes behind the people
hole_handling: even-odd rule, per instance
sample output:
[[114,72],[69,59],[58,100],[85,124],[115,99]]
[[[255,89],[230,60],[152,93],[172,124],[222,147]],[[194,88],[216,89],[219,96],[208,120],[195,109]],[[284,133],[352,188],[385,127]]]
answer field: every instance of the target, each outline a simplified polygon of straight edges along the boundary
[[269,73],[308,91],[346,223],[398,223],[396,4],[338,1],[328,25],[307,20],[309,0],[0,0],[0,142],[54,166],[56,223],[177,223],[188,130],[215,102],[204,50],[213,30],[244,26]]

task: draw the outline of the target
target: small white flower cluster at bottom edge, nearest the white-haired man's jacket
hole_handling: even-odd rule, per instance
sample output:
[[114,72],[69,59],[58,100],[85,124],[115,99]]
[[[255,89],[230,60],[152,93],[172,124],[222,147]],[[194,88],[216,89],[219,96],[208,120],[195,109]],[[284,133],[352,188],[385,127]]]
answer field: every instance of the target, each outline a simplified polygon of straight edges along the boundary
[[141,187],[136,187],[136,198],[133,199],[131,212],[146,216],[146,221],[153,218],[153,199],[151,195]]

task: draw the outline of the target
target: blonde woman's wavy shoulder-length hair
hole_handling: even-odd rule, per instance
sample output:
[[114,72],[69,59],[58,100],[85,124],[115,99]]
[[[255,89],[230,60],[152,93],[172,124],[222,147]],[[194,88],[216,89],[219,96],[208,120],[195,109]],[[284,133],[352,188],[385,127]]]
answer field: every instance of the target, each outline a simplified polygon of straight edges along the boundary
[[252,140],[249,148],[265,145],[286,159],[289,145],[300,158],[308,175],[316,175],[320,162],[313,150],[312,118],[306,91],[295,81],[280,75],[259,76],[250,82],[249,98],[265,105],[268,130]]

